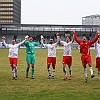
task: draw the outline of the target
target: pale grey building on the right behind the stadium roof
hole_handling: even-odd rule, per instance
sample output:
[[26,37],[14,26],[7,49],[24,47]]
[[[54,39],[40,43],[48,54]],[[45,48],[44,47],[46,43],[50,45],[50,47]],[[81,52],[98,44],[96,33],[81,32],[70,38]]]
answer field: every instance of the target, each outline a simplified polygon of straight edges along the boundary
[[100,15],[82,17],[82,25],[100,25]]

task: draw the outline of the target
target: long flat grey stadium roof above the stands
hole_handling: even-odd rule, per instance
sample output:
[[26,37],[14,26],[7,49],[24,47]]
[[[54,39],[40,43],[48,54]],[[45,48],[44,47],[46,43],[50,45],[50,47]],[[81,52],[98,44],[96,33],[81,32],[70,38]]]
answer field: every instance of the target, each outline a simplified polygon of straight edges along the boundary
[[0,28],[95,28],[100,29],[100,25],[54,25],[54,24],[0,24]]

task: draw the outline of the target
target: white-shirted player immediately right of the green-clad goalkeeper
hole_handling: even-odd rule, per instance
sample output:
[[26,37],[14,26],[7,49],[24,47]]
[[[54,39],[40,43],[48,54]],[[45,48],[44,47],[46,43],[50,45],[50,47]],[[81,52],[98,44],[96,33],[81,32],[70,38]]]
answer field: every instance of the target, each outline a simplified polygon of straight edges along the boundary
[[52,64],[52,79],[54,78],[55,73],[55,65],[56,65],[56,47],[58,45],[58,39],[57,42],[54,43],[54,40],[50,38],[49,44],[43,43],[43,36],[41,36],[41,44],[42,46],[46,47],[48,49],[48,57],[47,57],[47,70],[48,70],[48,79],[51,77],[50,72],[50,65]]

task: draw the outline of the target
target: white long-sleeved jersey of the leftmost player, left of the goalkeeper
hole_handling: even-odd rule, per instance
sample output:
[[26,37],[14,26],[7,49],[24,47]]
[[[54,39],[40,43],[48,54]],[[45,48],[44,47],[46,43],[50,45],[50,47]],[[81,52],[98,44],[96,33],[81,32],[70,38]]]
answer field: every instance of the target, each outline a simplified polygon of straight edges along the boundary
[[23,40],[22,42],[20,42],[18,44],[13,45],[13,44],[7,44],[5,42],[5,40],[3,40],[4,45],[9,48],[9,55],[8,55],[8,57],[10,57],[10,58],[18,58],[18,48],[24,42],[25,42],[25,40]]

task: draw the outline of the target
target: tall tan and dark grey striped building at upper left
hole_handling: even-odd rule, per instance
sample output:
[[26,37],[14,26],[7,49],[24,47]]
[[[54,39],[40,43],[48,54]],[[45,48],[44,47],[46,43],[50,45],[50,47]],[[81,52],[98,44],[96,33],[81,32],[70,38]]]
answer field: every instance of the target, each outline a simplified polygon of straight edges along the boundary
[[21,0],[0,0],[0,24],[21,23]]

